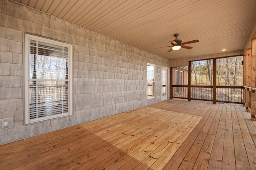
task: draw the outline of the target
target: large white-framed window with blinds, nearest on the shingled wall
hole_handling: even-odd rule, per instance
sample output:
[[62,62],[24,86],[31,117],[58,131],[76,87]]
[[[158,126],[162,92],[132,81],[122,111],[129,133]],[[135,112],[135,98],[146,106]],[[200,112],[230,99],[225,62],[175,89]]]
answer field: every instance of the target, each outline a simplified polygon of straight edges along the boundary
[[25,34],[25,124],[72,115],[72,45]]

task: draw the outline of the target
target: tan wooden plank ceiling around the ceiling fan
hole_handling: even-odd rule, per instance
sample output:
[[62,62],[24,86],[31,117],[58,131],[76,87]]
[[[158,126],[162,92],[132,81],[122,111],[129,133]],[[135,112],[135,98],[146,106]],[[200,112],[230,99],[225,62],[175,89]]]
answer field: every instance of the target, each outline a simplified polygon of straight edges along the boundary
[[[166,59],[243,50],[256,25],[256,0],[14,1]],[[200,42],[167,53],[175,33]]]

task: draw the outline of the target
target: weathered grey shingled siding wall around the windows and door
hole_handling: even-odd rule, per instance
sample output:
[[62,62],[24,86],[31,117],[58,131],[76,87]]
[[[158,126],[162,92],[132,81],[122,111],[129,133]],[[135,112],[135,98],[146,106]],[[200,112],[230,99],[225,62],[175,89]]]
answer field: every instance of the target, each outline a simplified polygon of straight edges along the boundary
[[[72,116],[24,125],[24,33],[73,45]],[[14,121],[0,130],[0,144],[160,102],[161,66],[170,68],[162,57],[9,0],[0,1],[0,42],[0,119]],[[150,100],[146,63],[156,65]]]

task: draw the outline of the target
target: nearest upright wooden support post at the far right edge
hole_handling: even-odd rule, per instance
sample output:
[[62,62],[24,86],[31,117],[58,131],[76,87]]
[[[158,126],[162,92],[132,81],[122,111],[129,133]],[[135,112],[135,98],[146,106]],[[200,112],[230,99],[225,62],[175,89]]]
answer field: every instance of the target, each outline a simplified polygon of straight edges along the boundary
[[256,120],[255,117],[255,89],[256,88],[256,39],[252,39],[252,53],[251,53],[251,119]]

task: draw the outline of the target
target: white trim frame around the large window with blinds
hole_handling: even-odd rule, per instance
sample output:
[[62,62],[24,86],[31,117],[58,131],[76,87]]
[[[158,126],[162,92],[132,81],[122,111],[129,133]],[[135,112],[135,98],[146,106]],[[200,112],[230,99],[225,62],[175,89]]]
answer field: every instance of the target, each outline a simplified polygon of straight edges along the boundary
[[[36,119],[30,119],[30,109],[29,109],[29,81],[30,79],[30,40],[34,39],[36,41],[42,41],[45,43],[50,43],[53,45],[60,45],[62,47],[68,48],[68,113],[60,113],[56,115],[50,115],[45,117],[40,117]],[[24,39],[24,121],[25,124],[37,123],[40,121],[65,117],[72,115],[72,45],[63,43],[60,41],[39,37],[35,35],[30,35],[25,33]]]

